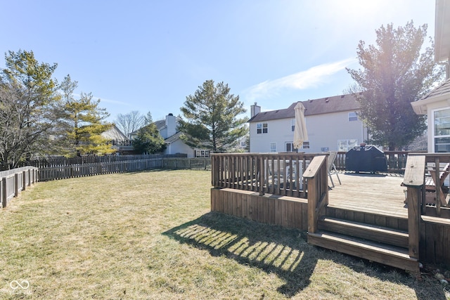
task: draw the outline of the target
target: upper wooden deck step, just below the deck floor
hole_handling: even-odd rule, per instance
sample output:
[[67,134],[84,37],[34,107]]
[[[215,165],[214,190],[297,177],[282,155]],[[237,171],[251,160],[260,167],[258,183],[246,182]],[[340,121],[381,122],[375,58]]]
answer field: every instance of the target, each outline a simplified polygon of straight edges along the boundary
[[408,248],[409,245],[409,235],[405,231],[328,216],[319,219],[319,230],[360,237],[364,240],[392,244],[397,247]]

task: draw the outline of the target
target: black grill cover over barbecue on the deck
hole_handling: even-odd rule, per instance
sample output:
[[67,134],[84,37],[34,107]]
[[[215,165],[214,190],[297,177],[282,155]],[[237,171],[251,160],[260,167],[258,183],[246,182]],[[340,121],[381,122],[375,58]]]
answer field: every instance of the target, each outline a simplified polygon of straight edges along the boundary
[[345,169],[371,173],[387,171],[385,153],[374,146],[356,146],[345,155]]

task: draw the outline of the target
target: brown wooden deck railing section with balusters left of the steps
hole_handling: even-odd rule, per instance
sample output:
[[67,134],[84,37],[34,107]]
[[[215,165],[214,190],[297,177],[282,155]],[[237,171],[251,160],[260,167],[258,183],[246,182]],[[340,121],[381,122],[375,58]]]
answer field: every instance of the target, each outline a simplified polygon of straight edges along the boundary
[[212,154],[214,188],[251,190],[264,195],[306,198],[303,171],[317,154],[226,153]]

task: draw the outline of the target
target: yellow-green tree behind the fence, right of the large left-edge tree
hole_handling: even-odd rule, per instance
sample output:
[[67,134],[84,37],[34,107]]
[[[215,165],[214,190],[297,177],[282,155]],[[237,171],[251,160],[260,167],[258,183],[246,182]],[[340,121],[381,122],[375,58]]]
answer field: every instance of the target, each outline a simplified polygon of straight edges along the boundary
[[98,107],[100,100],[93,100],[92,93],[81,93],[79,99],[75,99],[73,92],[77,86],[77,81],[72,81],[70,75],[60,84],[68,145],[65,155],[104,155],[114,152],[108,139],[101,136],[112,126],[105,122],[109,117],[108,112]]

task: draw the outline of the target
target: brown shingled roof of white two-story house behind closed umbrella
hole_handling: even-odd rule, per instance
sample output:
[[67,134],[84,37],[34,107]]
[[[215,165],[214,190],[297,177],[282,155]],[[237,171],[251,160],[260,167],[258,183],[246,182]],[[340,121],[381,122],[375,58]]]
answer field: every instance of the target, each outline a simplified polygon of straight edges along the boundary
[[[354,94],[319,98],[302,102],[305,110],[305,117],[311,115],[323,115],[332,112],[347,112],[359,110],[359,103],[356,101]],[[291,104],[288,108],[283,110],[271,110],[269,112],[259,112],[252,117],[248,122],[269,121],[271,119],[293,119],[295,118],[294,107],[297,102]]]

